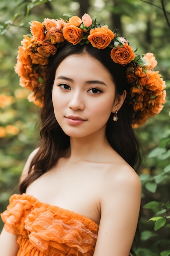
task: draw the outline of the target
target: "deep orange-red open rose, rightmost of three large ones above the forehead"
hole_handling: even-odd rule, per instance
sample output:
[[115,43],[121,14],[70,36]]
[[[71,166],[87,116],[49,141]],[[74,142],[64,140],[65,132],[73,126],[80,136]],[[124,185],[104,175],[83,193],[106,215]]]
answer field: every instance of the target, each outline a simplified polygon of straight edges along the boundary
[[125,66],[130,63],[130,61],[134,60],[135,53],[129,45],[124,44],[124,47],[118,45],[116,48],[112,49],[110,56],[115,63]]

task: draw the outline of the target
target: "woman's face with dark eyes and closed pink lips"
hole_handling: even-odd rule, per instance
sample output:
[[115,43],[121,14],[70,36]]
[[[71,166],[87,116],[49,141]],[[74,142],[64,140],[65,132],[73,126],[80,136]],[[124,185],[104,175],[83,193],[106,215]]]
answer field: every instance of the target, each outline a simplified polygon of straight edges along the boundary
[[73,54],[57,67],[52,92],[55,117],[70,137],[105,134],[115,112],[115,84],[102,64],[89,54]]

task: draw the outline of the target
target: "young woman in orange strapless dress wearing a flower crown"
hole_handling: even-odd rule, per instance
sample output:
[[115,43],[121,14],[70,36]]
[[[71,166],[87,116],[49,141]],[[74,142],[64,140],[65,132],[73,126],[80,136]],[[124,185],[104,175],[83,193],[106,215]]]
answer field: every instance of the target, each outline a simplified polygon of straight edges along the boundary
[[41,107],[41,141],[20,195],[1,214],[1,255],[135,255],[141,183],[133,128],[165,102],[155,57],[135,55],[88,14],[34,21],[31,33],[15,71]]

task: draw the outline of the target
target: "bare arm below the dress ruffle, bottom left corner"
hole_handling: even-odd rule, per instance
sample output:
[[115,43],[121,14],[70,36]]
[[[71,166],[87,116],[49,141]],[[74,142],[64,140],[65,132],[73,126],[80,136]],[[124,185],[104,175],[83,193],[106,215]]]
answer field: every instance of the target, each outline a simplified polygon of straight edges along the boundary
[[17,237],[4,228],[0,234],[0,256],[17,256],[18,244]]

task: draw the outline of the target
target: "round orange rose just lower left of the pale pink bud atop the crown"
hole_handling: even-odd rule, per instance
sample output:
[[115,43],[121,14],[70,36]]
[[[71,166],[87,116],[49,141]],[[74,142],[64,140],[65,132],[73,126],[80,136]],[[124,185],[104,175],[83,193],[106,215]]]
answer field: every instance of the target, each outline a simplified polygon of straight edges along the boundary
[[79,27],[67,24],[63,28],[63,36],[68,42],[77,45],[82,40],[83,31]]

